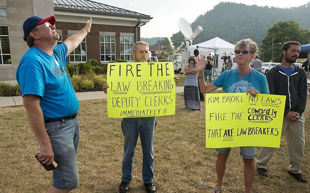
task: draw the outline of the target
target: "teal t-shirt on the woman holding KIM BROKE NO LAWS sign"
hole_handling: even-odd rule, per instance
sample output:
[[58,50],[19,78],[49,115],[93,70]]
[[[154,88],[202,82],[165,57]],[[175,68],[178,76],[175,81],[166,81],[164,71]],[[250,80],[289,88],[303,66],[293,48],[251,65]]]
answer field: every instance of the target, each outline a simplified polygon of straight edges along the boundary
[[237,68],[225,70],[212,83],[215,86],[222,87],[225,93],[246,92],[255,88],[259,93],[269,94],[266,76],[254,69],[244,78],[240,77]]

